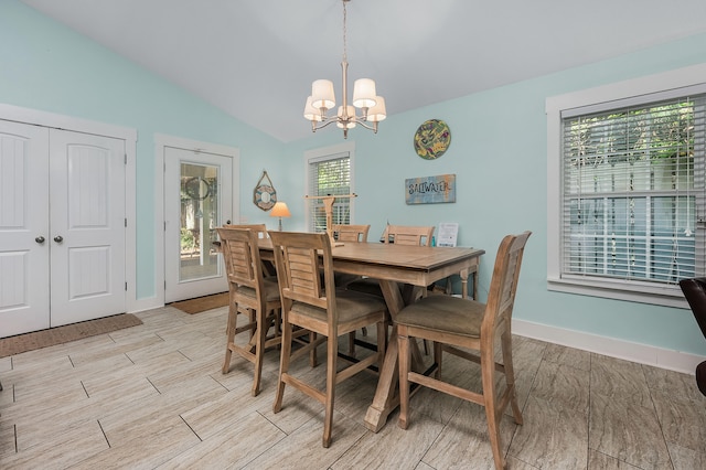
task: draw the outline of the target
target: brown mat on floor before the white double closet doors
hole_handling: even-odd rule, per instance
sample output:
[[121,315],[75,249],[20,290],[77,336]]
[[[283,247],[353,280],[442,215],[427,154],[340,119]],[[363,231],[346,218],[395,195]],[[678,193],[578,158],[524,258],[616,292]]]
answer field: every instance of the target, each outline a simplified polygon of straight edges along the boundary
[[41,348],[64,344],[98,334],[110,333],[124,328],[142,324],[142,320],[131,313],[121,313],[79,323],[33,331],[0,339],[0,357],[34,351]]

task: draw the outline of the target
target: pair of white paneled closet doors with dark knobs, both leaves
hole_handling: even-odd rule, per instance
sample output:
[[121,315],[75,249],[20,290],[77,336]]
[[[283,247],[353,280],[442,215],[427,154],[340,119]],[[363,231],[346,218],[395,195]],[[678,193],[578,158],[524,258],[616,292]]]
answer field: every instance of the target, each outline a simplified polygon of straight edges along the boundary
[[0,120],[0,338],[125,311],[125,141]]

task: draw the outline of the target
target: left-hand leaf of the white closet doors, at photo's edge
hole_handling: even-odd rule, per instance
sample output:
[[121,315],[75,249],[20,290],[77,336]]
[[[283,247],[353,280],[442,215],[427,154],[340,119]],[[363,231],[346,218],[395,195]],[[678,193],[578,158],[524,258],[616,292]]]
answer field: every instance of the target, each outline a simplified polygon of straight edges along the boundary
[[50,325],[49,130],[0,120],[0,338]]

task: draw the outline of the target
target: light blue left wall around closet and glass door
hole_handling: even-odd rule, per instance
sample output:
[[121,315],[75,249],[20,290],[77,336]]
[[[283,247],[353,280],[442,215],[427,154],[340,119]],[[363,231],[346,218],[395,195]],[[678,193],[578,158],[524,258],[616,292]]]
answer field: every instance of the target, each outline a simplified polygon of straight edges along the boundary
[[154,135],[239,148],[245,218],[261,216],[246,202],[284,148],[15,0],[0,1],[0,103],[137,129],[138,299],[154,296],[154,250],[162,249],[154,246]]

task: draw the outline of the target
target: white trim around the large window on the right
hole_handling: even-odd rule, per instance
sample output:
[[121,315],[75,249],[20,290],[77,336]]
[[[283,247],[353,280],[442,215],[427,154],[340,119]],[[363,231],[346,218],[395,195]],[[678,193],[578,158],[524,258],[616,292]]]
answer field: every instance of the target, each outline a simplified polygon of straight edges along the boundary
[[[645,282],[631,282],[625,288],[620,281],[587,279],[580,276],[561,277],[561,118],[611,109],[634,103],[651,100],[649,95],[662,97],[683,96],[706,92],[706,64],[698,64],[655,75],[628,79],[596,88],[548,97],[545,102],[547,117],[547,290],[603,297],[617,300],[688,308],[678,286],[659,287]],[[686,90],[694,88],[694,90]],[[590,107],[590,108],[589,108]]]

